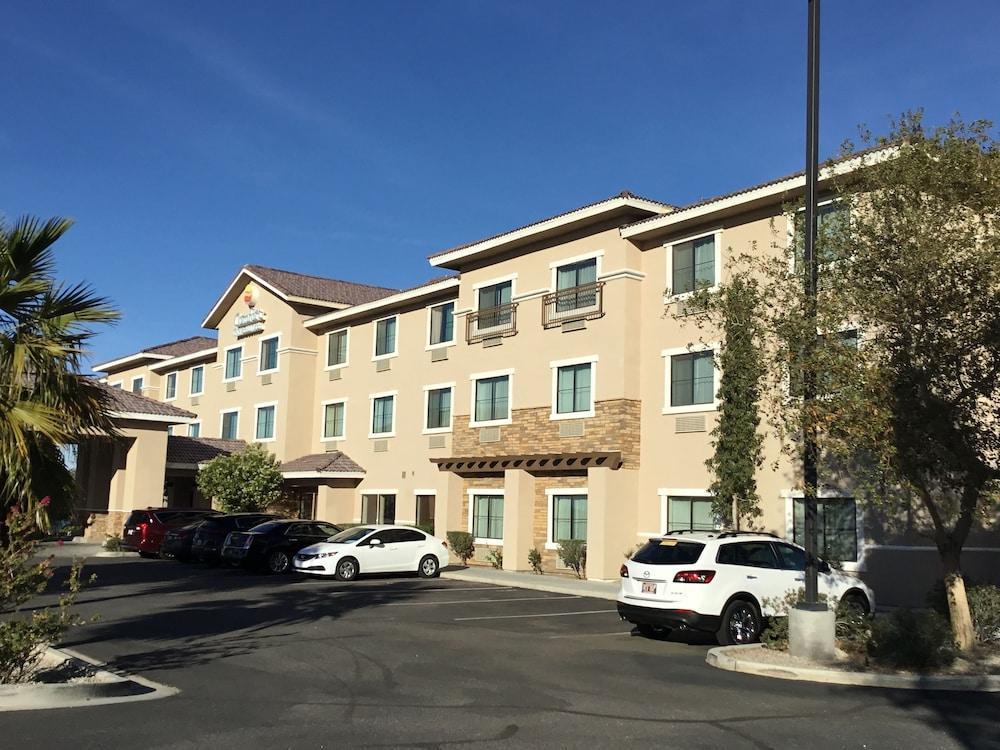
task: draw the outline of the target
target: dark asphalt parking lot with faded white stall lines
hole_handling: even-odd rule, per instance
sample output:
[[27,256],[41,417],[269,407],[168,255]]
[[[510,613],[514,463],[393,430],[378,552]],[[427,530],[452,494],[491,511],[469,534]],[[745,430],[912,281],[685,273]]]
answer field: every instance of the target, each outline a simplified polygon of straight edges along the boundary
[[633,635],[607,600],[160,560],[88,571],[80,611],[101,621],[66,645],[181,692],[5,714],[3,746],[1000,747],[1000,697],[721,672],[709,639]]

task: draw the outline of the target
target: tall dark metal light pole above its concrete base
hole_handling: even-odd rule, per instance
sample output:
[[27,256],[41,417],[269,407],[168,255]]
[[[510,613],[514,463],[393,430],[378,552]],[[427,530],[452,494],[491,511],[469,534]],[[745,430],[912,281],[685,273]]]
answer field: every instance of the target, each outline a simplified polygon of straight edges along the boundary
[[[808,413],[816,399],[816,372],[812,368],[816,350],[816,178],[819,171],[819,3],[809,0],[808,61],[806,63],[806,207],[805,207],[805,248],[803,265],[805,269],[806,331],[803,342],[802,359],[805,363],[802,373],[802,404]],[[818,580],[816,564],[816,495],[818,487],[817,430],[808,415],[803,420],[804,434],[802,451],[802,482],[805,503],[805,547],[806,547],[806,604],[818,603]]]

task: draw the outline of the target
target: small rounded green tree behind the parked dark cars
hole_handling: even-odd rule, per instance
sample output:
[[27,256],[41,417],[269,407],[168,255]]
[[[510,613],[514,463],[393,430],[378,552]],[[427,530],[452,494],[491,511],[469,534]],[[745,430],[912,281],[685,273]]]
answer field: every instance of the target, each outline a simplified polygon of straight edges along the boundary
[[227,513],[261,511],[281,500],[281,465],[256,443],[217,456],[198,472],[198,489]]

